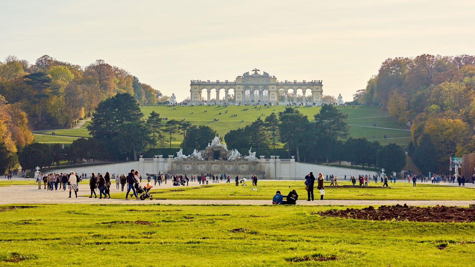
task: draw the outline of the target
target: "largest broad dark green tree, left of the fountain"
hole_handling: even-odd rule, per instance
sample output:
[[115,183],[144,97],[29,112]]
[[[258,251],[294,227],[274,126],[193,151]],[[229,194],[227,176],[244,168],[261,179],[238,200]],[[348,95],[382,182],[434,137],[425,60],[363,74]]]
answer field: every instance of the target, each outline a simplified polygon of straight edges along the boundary
[[[134,153],[134,148],[142,148],[140,144],[151,135],[150,129],[142,125],[144,124],[141,121],[142,116],[137,100],[132,95],[117,94],[97,105],[91,124],[86,128],[97,141],[106,144],[106,149],[123,154]],[[127,127],[122,128],[125,124]],[[130,125],[137,128],[133,129]],[[146,136],[142,136],[143,134]],[[138,143],[124,146],[123,140],[132,140],[133,138],[138,140]],[[119,147],[119,144],[123,147]]]

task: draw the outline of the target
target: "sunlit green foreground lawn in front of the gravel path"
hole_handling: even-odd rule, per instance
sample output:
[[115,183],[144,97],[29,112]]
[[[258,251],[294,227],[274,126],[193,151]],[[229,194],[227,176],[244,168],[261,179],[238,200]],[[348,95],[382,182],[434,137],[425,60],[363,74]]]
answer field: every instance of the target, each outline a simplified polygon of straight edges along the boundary
[[[0,265],[386,267],[466,266],[475,260],[475,223],[316,214],[346,208],[3,205]],[[304,260],[322,256],[333,260]]]

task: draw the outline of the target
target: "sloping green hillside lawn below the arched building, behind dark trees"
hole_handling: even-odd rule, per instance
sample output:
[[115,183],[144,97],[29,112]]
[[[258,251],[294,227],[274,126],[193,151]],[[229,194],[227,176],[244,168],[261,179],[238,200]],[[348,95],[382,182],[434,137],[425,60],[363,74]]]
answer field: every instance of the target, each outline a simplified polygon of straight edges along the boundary
[[[249,110],[243,110],[248,108]],[[404,124],[399,124],[396,119],[390,117],[388,111],[384,111],[380,106],[338,106],[344,114],[348,114],[348,123],[351,125],[351,136],[365,137],[371,140],[371,136],[375,135],[376,140],[381,144],[397,143],[401,146],[407,146],[410,142],[410,131]],[[144,119],[146,119],[152,111],[160,114],[161,117],[171,119],[190,121],[192,124],[204,124],[215,129],[221,136],[224,137],[230,130],[244,127],[251,124],[258,117],[264,120],[266,115],[275,112],[283,111],[285,106],[277,105],[271,107],[262,106],[176,106],[169,105],[143,105],[142,113]],[[308,116],[309,120],[314,119],[314,114],[320,111],[320,107],[296,107],[301,113]],[[206,112],[205,112],[206,111]],[[226,113],[228,111],[228,113]],[[219,114],[221,113],[221,114]],[[236,117],[232,117],[232,114],[237,114]],[[219,121],[214,119],[218,118]],[[372,125],[376,124],[376,127]],[[51,134],[51,131],[39,131],[35,132],[35,140],[40,143],[71,143],[74,139],[65,139],[64,136],[70,137],[88,137],[89,133],[87,129],[63,129],[55,130],[55,136],[37,135],[37,134]],[[384,134],[388,139],[383,139]],[[180,134],[173,136],[175,138],[172,141],[172,147],[179,147],[183,140]],[[47,139],[47,142],[45,141]],[[67,142],[66,142],[67,141]]]

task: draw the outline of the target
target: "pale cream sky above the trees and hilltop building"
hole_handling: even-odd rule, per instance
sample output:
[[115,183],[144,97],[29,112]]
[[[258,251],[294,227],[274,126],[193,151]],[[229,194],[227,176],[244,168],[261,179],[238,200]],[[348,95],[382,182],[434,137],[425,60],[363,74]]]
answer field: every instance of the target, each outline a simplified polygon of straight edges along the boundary
[[257,67],[351,101],[386,58],[475,55],[473,0],[0,0],[0,18],[0,60],[104,59],[178,100]]

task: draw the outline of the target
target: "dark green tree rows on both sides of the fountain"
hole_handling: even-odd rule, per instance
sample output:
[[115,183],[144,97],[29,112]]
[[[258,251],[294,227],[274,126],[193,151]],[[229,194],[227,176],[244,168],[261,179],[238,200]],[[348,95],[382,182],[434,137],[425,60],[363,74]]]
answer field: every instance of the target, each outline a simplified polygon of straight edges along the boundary
[[[224,140],[230,149],[275,148],[276,140],[280,140],[286,149],[296,151],[298,162],[348,161],[363,167],[372,165],[395,172],[402,170],[406,163],[402,148],[396,144],[383,147],[365,138],[348,138],[347,116],[334,105],[323,105],[310,122],[297,109],[287,107],[278,115],[272,113],[265,120],[257,118],[246,127],[231,130]],[[77,139],[65,147],[33,143],[19,153],[19,161],[29,168],[34,164],[59,164],[61,160],[70,164],[94,159],[119,161],[128,157],[136,160],[138,153],[150,147],[171,147],[174,134],[183,135],[183,148],[205,148],[218,135],[207,125],[191,125],[184,120],[163,121],[156,112],[147,119],[142,117],[132,95],[116,94],[97,105],[91,124],[87,126],[91,138]]]

